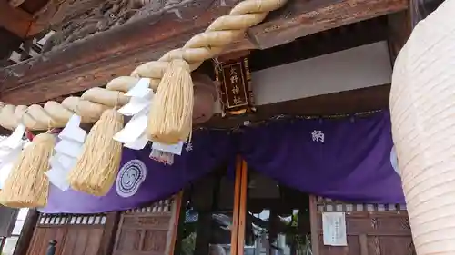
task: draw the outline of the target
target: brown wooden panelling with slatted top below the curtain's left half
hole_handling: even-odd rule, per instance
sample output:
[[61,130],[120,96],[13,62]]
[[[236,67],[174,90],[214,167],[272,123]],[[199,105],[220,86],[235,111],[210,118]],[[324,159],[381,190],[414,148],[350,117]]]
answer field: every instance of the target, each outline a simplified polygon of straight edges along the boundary
[[127,211],[40,213],[28,247],[15,255],[45,255],[50,240],[56,255],[173,254],[181,196]]

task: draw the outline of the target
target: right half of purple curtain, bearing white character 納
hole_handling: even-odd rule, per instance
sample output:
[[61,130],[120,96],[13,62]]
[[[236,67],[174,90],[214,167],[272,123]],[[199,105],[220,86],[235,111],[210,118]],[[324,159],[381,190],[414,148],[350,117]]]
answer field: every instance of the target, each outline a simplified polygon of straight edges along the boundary
[[249,167],[291,188],[344,201],[404,203],[392,146],[387,112],[272,122],[239,139]]

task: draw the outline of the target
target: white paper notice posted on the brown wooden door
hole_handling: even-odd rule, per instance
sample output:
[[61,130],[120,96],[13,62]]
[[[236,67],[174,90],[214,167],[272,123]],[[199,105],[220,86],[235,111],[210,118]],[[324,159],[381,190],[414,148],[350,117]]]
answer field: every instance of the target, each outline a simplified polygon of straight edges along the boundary
[[348,246],[345,213],[323,212],[322,235],[324,237],[324,245]]

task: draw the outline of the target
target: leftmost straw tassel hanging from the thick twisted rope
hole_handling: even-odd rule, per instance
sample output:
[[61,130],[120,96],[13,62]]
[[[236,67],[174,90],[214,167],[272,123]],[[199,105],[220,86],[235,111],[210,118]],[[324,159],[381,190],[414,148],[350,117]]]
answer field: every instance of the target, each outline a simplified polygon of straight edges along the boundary
[[0,192],[0,203],[8,207],[43,207],[47,204],[49,181],[45,172],[54,151],[56,137],[50,133],[35,136],[21,152]]

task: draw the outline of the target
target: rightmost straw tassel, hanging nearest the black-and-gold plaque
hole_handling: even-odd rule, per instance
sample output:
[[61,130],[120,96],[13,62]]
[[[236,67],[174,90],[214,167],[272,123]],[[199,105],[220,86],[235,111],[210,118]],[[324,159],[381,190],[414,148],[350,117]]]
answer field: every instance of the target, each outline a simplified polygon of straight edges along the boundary
[[187,141],[192,131],[193,96],[189,65],[184,60],[173,60],[151,104],[148,138],[166,144]]

